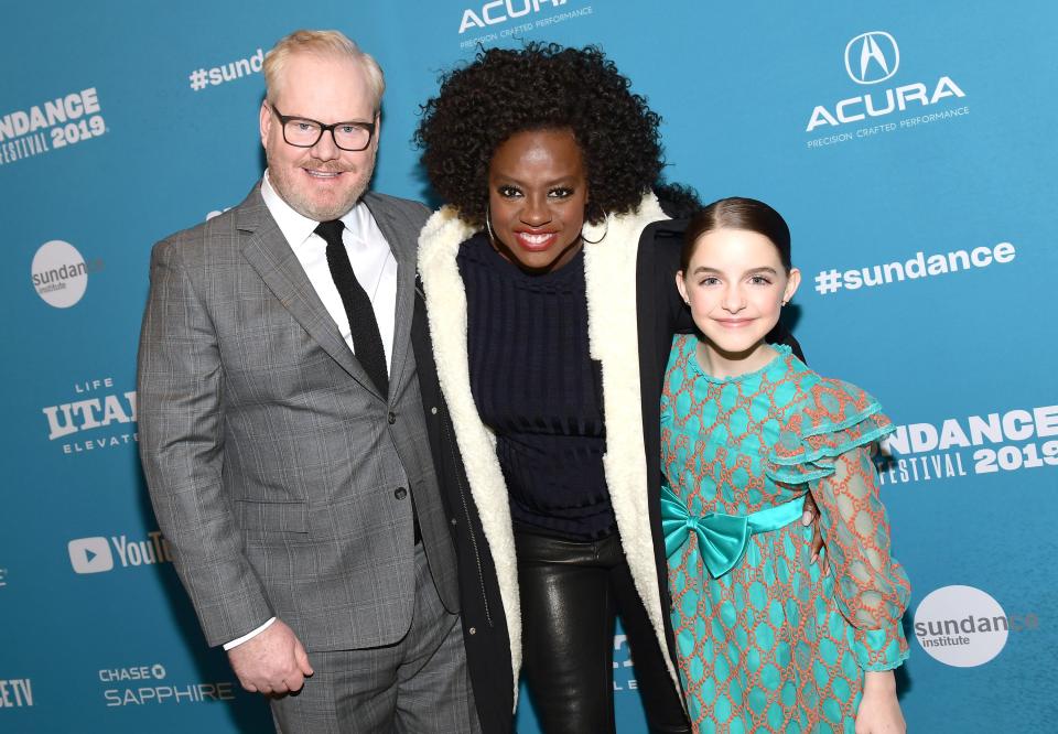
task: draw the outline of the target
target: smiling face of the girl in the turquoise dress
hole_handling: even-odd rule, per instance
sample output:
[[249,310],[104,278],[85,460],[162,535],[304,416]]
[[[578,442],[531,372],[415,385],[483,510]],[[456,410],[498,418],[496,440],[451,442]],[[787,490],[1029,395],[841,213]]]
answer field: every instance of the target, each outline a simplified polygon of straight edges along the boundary
[[736,375],[764,366],[771,355],[764,337],[799,283],[797,268],[787,272],[778,249],[762,234],[720,228],[695,240],[687,271],[677,274],[676,284],[705,336],[704,356],[713,374]]

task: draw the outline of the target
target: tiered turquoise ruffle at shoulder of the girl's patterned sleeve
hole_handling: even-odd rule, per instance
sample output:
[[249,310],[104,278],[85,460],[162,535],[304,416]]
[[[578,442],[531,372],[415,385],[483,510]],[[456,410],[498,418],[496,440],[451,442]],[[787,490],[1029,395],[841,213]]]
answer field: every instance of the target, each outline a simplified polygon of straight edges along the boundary
[[834,460],[895,430],[882,406],[855,385],[831,378],[809,389],[764,461],[775,482],[806,484],[834,473]]

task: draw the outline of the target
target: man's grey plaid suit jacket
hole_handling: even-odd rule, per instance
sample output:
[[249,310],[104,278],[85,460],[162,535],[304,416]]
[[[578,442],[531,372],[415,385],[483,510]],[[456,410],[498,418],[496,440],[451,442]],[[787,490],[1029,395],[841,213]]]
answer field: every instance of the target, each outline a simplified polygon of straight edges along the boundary
[[365,202],[398,263],[389,396],[342,339],[259,185],[152,252],[140,456],[209,645],[273,615],[310,651],[400,639],[414,601],[412,499],[434,584],[457,611],[410,346],[429,212]]

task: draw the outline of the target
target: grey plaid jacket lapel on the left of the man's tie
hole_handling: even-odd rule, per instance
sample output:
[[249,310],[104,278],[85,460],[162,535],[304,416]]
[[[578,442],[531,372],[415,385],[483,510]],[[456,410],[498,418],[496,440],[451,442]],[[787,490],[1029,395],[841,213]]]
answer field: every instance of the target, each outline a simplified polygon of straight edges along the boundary
[[242,256],[290,315],[364,389],[386,400],[338,333],[298,256],[264,206],[259,186],[239,206],[236,226],[247,235]]

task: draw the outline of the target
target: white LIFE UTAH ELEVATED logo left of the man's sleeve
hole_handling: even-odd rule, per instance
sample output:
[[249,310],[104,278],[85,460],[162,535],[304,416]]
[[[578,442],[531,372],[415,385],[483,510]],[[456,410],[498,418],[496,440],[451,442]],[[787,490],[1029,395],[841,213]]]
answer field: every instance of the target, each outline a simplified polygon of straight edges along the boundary
[[134,390],[117,389],[112,377],[101,377],[76,382],[74,396],[74,400],[41,409],[47,440],[63,439],[64,454],[134,446],[139,441]]

